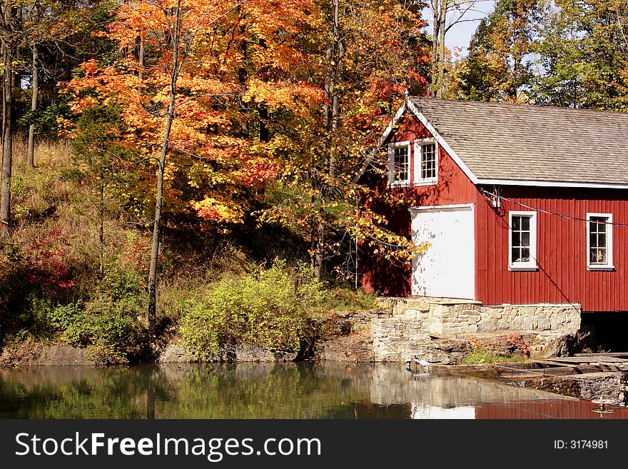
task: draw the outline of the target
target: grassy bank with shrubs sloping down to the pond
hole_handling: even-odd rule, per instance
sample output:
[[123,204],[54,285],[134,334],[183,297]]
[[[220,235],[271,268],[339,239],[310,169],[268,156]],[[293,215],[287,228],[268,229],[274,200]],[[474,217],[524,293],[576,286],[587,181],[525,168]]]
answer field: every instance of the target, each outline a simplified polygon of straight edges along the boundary
[[[14,227],[0,246],[0,345],[27,338],[88,348],[101,363],[151,360],[146,278],[151,226],[101,196],[93,168],[64,141],[36,147],[26,167],[17,140]],[[298,351],[332,309],[373,307],[373,296],[311,278],[303,242],[254,223],[204,229],[185,217],[166,226],[158,278],[158,338],[179,335],[198,358],[239,341]]]

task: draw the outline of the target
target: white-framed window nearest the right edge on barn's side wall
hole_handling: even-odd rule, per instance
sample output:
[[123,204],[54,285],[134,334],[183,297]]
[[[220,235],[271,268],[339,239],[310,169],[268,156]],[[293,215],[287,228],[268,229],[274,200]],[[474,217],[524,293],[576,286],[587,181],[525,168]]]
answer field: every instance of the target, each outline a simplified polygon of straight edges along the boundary
[[613,216],[611,213],[587,213],[587,268],[613,268]]

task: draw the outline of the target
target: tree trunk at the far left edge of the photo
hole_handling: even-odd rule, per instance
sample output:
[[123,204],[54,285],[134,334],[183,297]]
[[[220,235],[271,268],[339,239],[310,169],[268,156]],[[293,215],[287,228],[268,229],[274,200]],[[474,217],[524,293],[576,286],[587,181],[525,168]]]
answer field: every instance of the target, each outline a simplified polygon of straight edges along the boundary
[[[9,7],[10,8],[10,7]],[[4,80],[2,86],[2,183],[0,188],[0,238],[9,236],[11,222],[11,166],[13,153],[13,135],[11,132],[11,102],[13,90],[13,66],[11,63],[11,44],[7,39],[2,41],[2,62],[4,64]]]

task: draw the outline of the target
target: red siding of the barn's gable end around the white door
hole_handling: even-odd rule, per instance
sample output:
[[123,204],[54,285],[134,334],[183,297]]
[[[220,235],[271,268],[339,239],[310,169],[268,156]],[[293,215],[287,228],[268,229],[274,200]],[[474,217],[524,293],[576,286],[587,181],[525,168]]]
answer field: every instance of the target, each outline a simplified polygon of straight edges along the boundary
[[[429,138],[430,132],[425,126],[413,118],[405,118],[392,141],[410,141],[410,187],[387,187],[388,179],[379,178],[371,181],[378,187],[378,191],[395,191],[405,193],[412,200],[407,206],[374,207],[388,216],[389,228],[397,233],[410,237],[410,206],[452,205],[455,203],[475,203],[477,189],[457,166],[455,161],[439,146],[438,174],[435,186],[413,186],[414,180],[414,141],[416,138]],[[395,266],[363,248],[358,261],[358,271],[362,273],[362,286],[366,291],[382,293],[384,295],[409,296],[412,273],[410,266]]]

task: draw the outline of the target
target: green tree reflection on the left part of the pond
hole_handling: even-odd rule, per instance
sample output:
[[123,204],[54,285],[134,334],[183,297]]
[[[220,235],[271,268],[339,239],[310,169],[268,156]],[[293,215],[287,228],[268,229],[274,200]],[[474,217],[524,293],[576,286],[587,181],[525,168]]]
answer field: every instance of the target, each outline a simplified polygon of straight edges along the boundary
[[370,383],[313,363],[51,368],[0,370],[0,418],[325,418]]

